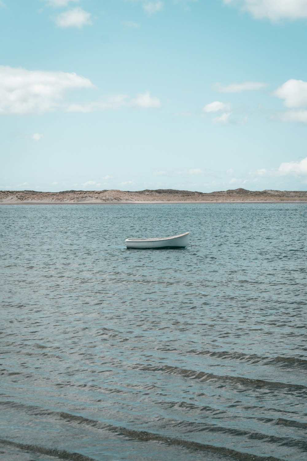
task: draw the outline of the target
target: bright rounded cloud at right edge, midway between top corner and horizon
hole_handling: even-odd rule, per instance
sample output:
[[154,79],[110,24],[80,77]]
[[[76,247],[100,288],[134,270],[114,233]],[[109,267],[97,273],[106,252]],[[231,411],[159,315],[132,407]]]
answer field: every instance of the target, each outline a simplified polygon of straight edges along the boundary
[[307,106],[307,82],[291,78],[273,92],[274,96],[284,99],[286,107]]

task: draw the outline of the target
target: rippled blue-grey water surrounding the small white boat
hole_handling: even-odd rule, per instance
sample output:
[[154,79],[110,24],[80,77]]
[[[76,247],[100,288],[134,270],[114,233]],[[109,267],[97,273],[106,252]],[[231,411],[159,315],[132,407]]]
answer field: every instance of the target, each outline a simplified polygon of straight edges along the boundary
[[306,216],[0,207],[0,458],[306,460]]

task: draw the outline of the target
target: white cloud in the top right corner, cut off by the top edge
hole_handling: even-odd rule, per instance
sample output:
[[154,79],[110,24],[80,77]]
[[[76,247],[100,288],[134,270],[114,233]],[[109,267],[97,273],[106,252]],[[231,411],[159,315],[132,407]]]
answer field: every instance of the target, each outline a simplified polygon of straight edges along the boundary
[[272,21],[289,18],[307,18],[307,0],[223,0],[226,4],[241,6],[254,18]]

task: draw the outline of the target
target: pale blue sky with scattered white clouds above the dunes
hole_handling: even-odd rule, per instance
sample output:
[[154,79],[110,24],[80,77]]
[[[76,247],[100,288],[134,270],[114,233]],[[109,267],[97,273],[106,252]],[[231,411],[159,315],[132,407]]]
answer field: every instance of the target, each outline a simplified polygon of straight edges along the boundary
[[0,189],[307,190],[307,0],[0,0]]

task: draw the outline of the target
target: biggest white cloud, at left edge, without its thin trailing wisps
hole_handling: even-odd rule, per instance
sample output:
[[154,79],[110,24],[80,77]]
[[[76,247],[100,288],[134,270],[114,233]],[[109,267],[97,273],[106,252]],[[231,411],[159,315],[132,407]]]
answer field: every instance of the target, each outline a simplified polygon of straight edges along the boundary
[[53,111],[63,106],[67,90],[80,88],[93,88],[93,83],[75,73],[0,66],[0,114]]

